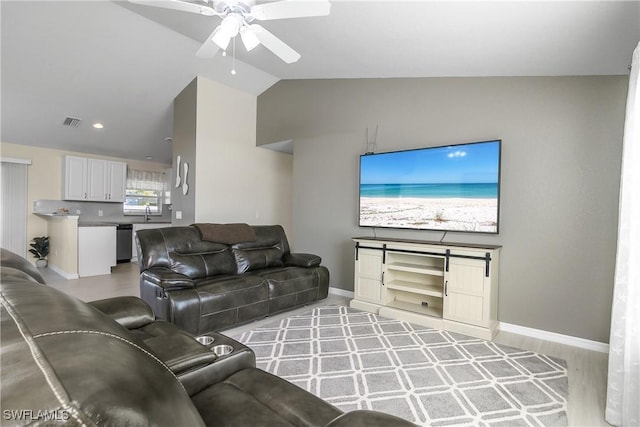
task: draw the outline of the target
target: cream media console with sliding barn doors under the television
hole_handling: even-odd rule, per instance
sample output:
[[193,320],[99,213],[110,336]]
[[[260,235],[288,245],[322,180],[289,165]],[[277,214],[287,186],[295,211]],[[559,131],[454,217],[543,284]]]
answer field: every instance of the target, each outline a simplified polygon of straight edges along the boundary
[[500,246],[356,237],[351,307],[492,340]]

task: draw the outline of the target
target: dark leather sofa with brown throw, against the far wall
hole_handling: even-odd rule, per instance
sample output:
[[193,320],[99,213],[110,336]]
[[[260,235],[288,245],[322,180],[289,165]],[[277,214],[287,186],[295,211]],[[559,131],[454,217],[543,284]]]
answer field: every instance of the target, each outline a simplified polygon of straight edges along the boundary
[[136,233],[140,297],[193,334],[327,297],[317,255],[291,253],[279,225],[194,224]]

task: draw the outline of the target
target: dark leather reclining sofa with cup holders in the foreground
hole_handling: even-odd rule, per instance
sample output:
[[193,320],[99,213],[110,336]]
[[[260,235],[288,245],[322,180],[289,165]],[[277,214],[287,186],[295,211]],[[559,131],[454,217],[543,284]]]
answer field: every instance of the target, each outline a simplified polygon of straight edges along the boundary
[[372,411],[342,413],[255,368],[253,352],[229,337],[212,334],[214,345],[234,347],[218,356],[155,320],[138,298],[85,303],[15,261],[1,267],[3,426],[413,425]]

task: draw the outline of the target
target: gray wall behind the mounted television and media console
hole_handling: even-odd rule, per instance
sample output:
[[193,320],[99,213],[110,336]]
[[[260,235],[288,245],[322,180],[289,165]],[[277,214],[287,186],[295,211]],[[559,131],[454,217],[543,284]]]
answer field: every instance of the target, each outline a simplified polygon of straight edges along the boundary
[[[499,320],[608,342],[626,76],[281,81],[258,98],[258,144],[294,140],[296,251],[353,289],[358,156],[482,141],[502,146]],[[442,233],[376,230],[440,239]]]

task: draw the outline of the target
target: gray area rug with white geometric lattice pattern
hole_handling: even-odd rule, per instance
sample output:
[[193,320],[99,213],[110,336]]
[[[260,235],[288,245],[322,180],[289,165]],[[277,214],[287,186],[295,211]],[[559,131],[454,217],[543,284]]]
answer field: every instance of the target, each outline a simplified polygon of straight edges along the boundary
[[566,426],[566,362],[341,306],[243,333],[257,365],[343,411],[431,426]]

